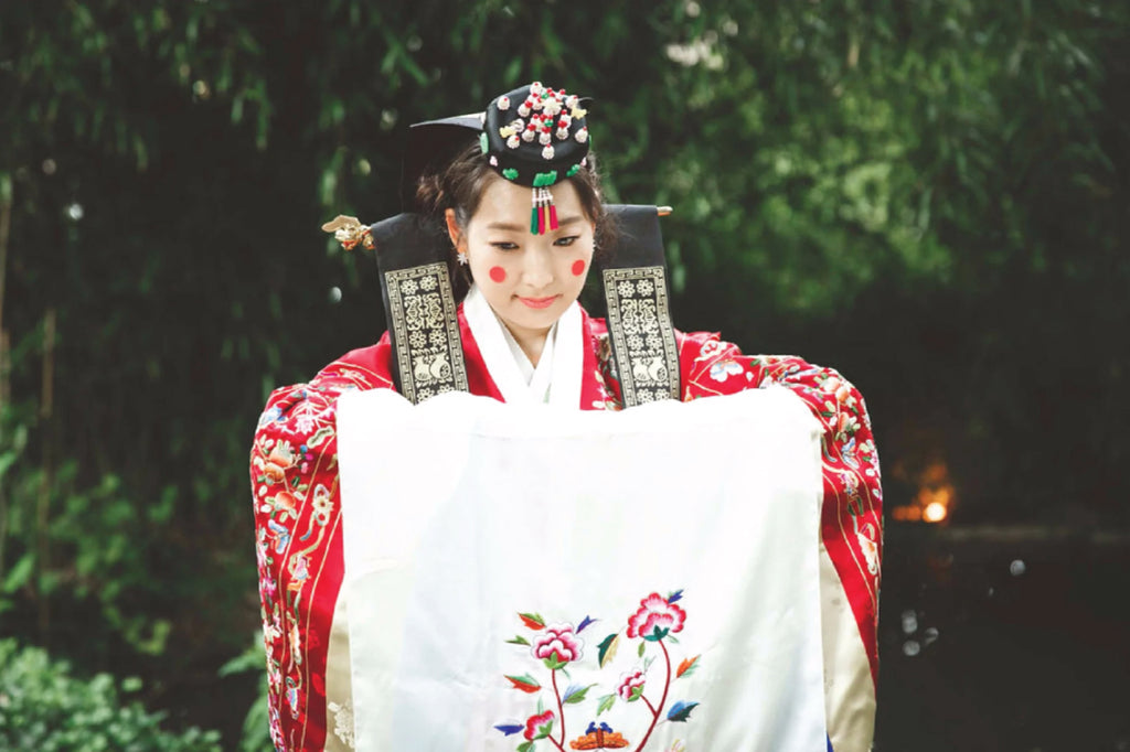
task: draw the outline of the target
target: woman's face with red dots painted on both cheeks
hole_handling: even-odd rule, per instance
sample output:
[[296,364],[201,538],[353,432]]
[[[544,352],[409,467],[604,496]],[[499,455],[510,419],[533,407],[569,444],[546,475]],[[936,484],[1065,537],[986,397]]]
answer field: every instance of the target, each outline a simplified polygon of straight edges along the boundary
[[530,233],[531,190],[492,180],[462,235],[447,229],[467,254],[471,277],[516,340],[542,336],[581,295],[592,263],[593,222],[568,181],[549,189],[558,229]]

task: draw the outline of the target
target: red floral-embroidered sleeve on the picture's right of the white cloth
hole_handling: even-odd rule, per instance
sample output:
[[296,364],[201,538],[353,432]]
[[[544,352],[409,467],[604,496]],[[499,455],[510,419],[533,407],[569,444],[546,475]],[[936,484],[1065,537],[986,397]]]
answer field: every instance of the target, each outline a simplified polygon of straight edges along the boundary
[[843,376],[792,356],[744,356],[718,334],[679,334],[684,400],[780,384],[824,426],[822,536],[878,673],[876,628],[883,546],[879,457],[863,397]]

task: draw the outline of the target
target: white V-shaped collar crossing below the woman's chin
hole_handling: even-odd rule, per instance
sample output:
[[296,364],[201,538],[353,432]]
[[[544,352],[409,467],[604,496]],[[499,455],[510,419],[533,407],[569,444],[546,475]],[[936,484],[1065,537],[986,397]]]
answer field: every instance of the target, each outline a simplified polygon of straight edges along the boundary
[[575,300],[546,336],[537,368],[475,285],[463,300],[463,315],[483,353],[483,361],[506,402],[548,402],[571,410],[581,405],[583,322],[581,306]]

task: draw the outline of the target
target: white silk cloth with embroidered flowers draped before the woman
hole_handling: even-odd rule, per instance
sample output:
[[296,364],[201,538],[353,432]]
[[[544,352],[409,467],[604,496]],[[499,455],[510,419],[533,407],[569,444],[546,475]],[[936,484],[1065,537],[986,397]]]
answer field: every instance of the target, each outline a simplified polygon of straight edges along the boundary
[[344,395],[357,749],[824,752],[819,430],[780,387]]

